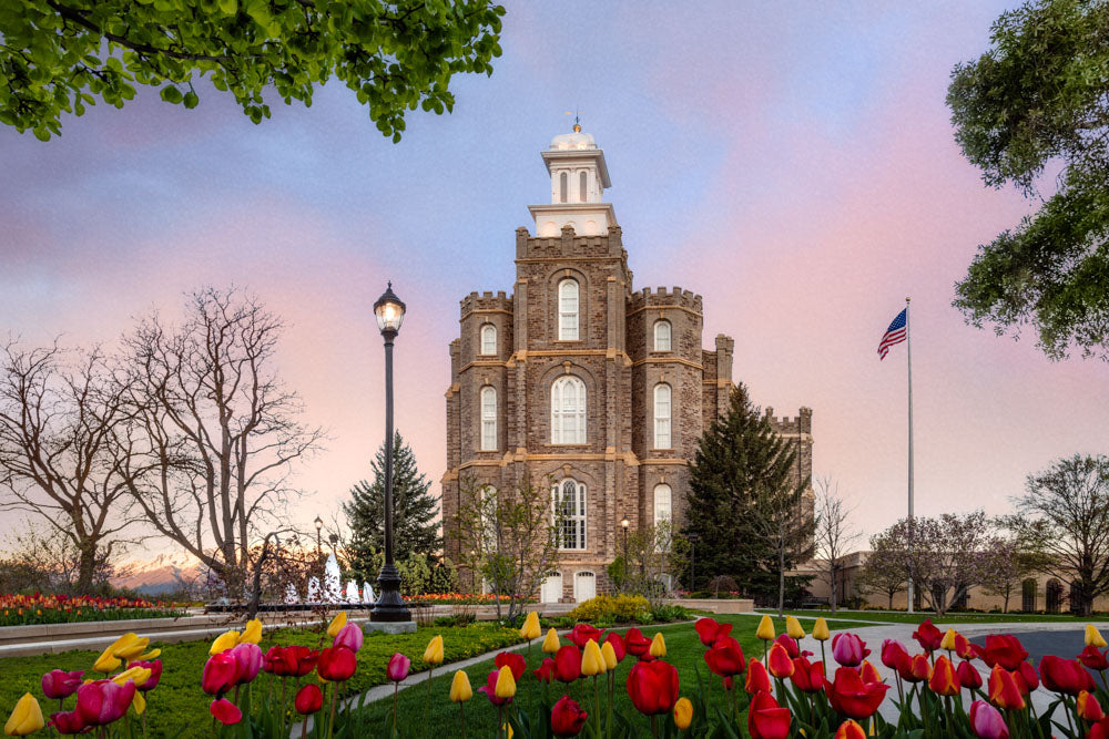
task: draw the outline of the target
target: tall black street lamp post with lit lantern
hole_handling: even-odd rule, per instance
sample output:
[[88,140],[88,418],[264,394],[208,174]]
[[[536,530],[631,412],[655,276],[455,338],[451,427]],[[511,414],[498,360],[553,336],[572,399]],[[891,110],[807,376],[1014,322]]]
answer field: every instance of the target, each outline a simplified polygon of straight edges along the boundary
[[385,566],[377,576],[378,597],[372,622],[410,622],[411,614],[400,597],[400,573],[393,563],[393,341],[405,319],[405,304],[393,292],[389,283],[374,304],[377,328],[385,338]]

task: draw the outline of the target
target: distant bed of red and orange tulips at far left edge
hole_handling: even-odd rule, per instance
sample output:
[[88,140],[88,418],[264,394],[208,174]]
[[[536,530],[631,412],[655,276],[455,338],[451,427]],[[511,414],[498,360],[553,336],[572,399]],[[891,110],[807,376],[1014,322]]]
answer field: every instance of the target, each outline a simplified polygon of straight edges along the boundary
[[184,616],[173,604],[144,598],[65,595],[0,595],[0,626]]

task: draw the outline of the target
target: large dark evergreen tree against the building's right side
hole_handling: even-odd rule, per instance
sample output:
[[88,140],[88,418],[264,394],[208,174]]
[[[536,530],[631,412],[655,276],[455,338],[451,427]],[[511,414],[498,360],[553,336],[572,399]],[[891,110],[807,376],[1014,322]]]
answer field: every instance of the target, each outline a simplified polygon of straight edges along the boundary
[[737,384],[690,465],[682,533],[699,537],[691,589],[728,575],[747,596],[781,593],[782,573],[813,543],[813,519],[802,503],[805,485],[794,481],[795,469],[796,452]]

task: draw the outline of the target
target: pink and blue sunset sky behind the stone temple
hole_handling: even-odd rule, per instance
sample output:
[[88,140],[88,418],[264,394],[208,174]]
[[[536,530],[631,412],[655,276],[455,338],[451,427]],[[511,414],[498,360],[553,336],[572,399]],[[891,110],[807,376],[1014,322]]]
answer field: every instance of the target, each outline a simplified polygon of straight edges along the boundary
[[110,345],[185,291],[250,288],[288,321],[281,371],[329,430],[296,480],[307,524],[380,443],[372,306],[391,279],[397,425],[438,491],[458,301],[511,289],[513,229],[549,201],[539,152],[578,107],[635,289],[702,295],[704,341],[735,338],[755,402],[813,408],[815,474],[858,530],[905,514],[905,346],[875,350],[906,296],[918,514],[1003,513],[1028,473],[1109,451],[1102,362],[1052,363],[950,305],[977,245],[1035,208],[981,183],[944,104],[1006,4],[744,4],[509,2],[492,76],[456,78],[454,114],[409,114],[397,145],[338,83],[311,109],[275,96],[261,125],[204,82],[195,110],[142,89],[49,143],[0,126],[0,335]]

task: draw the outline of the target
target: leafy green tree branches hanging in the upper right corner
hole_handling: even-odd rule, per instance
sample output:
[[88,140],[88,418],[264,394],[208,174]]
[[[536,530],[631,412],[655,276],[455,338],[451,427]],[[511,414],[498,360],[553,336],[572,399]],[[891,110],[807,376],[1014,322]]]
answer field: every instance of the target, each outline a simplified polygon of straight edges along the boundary
[[1109,359],[1109,4],[1040,0],[1001,14],[991,47],[952,73],[955,138],[989,185],[1040,197],[979,246],[955,306],[967,322],[1018,335],[1031,324],[1051,359],[1072,347]]

